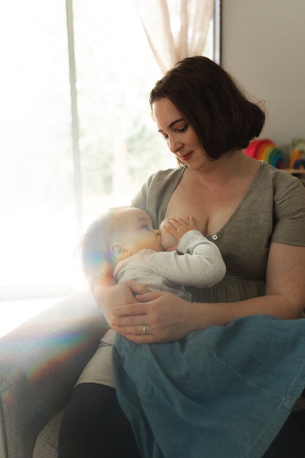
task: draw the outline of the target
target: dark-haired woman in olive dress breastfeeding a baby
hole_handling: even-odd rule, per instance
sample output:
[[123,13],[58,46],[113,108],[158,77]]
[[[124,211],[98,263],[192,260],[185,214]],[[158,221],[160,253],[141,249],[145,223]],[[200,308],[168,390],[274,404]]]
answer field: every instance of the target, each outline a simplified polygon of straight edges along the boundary
[[[183,167],[153,175],[132,206],[149,213],[161,230],[168,218],[192,214],[218,246],[227,274],[212,288],[191,289],[198,303],[193,308],[171,294],[145,294],[144,285],[92,279],[112,330],[138,344],[161,343],[242,316],[299,317],[305,306],[305,191],[299,180],[242,152],[262,130],[262,109],[204,57],[184,59],[167,72],[150,103],[158,131]],[[169,238],[165,248],[173,245]],[[59,458],[139,456],[113,389],[112,330],[75,388]],[[64,451],[69,442],[73,452]]]

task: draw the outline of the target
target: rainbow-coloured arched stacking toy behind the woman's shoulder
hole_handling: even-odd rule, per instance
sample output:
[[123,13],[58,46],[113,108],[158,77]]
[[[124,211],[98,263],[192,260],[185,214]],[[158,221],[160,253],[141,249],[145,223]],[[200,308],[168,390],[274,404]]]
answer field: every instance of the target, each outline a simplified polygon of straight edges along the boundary
[[284,153],[268,138],[254,140],[245,149],[245,153],[251,158],[267,162],[277,169],[286,168]]

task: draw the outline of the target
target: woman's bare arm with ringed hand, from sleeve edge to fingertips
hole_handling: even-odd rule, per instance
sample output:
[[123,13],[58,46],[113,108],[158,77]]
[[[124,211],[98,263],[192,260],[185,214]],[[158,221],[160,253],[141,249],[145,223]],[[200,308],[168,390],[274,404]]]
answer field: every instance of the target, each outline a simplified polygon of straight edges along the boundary
[[[298,318],[305,307],[305,247],[271,243],[266,294],[232,303],[192,304],[170,293],[137,296],[142,304],[112,309],[111,326],[136,343],[169,342],[212,324],[249,315]],[[143,334],[146,324],[147,335]]]

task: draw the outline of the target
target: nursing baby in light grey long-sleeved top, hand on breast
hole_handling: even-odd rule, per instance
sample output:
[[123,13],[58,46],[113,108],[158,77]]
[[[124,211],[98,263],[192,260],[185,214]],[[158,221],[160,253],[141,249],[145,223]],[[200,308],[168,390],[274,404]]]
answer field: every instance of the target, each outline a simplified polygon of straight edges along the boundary
[[139,208],[113,208],[96,218],[82,240],[86,277],[104,275],[107,266],[118,282],[133,279],[148,291],[170,291],[188,301],[192,296],[185,286],[207,288],[218,283],[225,275],[225,263],[193,217],[168,223],[163,227],[177,241],[177,251],[164,251],[160,230],[153,229],[149,215]]

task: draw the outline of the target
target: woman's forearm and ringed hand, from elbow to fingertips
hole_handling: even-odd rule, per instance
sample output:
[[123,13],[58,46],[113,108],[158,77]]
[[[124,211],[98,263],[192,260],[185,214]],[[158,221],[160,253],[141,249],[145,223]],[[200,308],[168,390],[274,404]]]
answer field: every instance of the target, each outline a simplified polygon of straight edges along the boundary
[[[300,295],[298,295],[300,297]],[[299,318],[305,306],[293,295],[267,294],[231,303],[192,303],[168,292],[137,295],[139,304],[112,309],[111,327],[137,344],[172,342],[211,325],[225,326],[242,316]],[[143,326],[146,325],[146,334]]]

